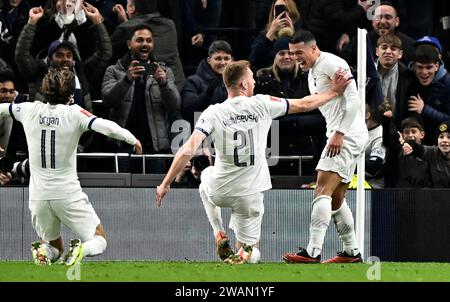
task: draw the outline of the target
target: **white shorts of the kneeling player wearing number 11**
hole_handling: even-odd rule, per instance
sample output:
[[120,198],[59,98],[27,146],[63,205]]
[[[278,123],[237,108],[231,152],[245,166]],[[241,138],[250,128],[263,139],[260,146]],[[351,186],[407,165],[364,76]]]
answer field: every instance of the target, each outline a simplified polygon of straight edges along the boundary
[[58,239],[63,223],[82,242],[90,240],[101,222],[87,195],[84,196],[74,201],[30,200],[31,223],[38,236],[46,241]]

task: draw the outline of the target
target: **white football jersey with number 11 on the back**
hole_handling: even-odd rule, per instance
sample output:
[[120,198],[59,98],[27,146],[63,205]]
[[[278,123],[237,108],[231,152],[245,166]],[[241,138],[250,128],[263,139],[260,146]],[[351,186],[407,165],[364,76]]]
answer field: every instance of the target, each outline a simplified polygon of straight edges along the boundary
[[78,105],[39,101],[12,104],[10,114],[23,124],[27,137],[30,200],[81,199],[77,146],[96,117]]

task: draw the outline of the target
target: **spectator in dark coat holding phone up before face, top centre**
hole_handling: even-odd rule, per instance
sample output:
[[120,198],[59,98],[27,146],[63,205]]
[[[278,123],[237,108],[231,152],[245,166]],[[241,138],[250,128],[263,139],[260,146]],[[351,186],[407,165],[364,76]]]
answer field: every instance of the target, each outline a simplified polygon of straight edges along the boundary
[[293,0],[274,0],[266,28],[258,34],[251,46],[249,61],[253,70],[271,66],[275,41],[280,37],[291,37],[302,27],[302,19]]

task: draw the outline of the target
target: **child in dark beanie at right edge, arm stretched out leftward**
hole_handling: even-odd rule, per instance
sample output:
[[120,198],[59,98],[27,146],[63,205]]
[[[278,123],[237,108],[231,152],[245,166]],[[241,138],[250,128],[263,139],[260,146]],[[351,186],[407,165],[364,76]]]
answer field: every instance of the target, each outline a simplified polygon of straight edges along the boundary
[[433,188],[450,188],[450,121],[438,126],[436,136],[437,146],[423,146],[412,141],[403,145],[403,152],[428,162]]

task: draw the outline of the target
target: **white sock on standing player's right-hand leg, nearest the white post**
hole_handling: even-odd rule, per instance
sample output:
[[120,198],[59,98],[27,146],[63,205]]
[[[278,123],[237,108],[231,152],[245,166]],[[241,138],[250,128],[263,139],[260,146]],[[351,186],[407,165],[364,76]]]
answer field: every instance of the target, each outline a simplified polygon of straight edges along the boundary
[[345,199],[341,207],[336,211],[333,211],[331,216],[339,237],[344,244],[344,251],[350,256],[358,255],[359,249],[356,243],[355,222],[353,220],[352,211],[348,207]]

